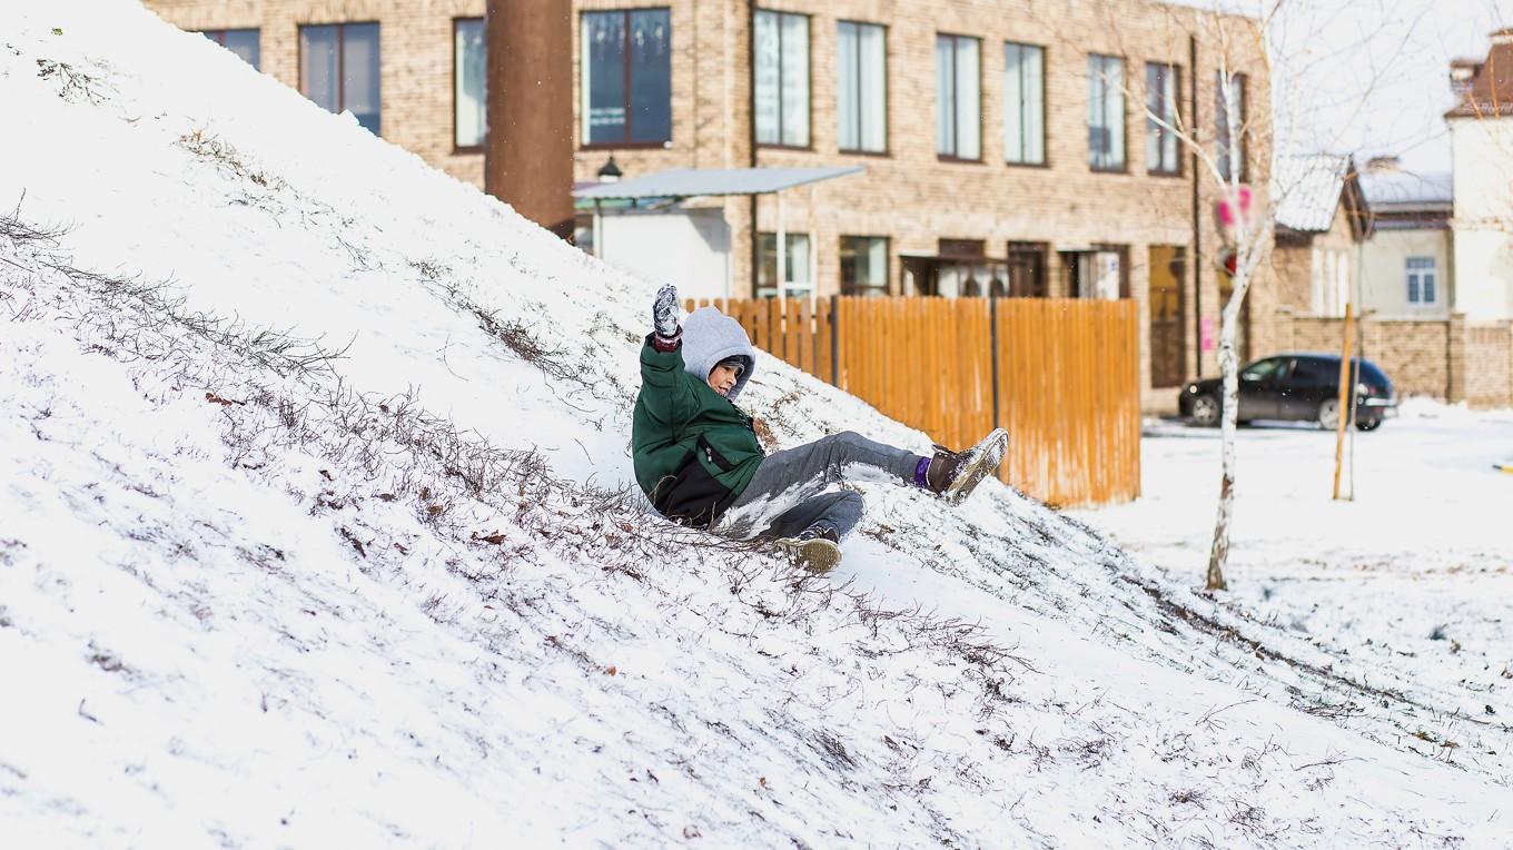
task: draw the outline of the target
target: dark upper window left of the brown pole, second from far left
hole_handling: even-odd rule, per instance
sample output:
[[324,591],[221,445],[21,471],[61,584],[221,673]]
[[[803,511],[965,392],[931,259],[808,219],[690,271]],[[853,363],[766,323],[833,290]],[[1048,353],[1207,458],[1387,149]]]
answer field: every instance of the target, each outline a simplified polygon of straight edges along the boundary
[[380,135],[378,24],[301,26],[300,92]]

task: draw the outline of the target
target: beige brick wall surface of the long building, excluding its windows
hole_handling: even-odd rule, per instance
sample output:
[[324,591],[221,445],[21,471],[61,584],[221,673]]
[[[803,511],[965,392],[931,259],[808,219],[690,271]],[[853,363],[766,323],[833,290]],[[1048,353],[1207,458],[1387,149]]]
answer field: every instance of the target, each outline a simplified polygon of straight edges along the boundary
[[[454,17],[478,17],[484,0],[147,0],[185,29],[259,27],[263,70],[298,85],[297,32],[304,23],[378,21],[381,26],[383,135],[448,172],[483,183],[483,154],[452,150]],[[1141,380],[1148,386],[1148,248],[1188,248],[1185,281],[1186,334],[1183,371],[1216,372],[1215,352],[1198,351],[1200,321],[1216,328],[1219,248],[1209,209],[1212,181],[1200,180],[1201,251],[1192,247],[1192,168],[1183,175],[1145,172],[1145,62],[1182,68],[1180,107],[1188,107],[1197,80],[1198,135],[1212,139],[1218,45],[1229,44],[1229,64],[1248,73],[1247,110],[1256,123],[1248,147],[1251,181],[1265,191],[1269,168],[1269,79],[1259,60],[1254,21],[1224,18],[1219,38],[1213,18],[1147,0],[769,0],[758,8],[800,12],[811,18],[811,147],[752,150],[749,11],[743,0],[575,0],[578,12],[664,6],[672,14],[672,141],[660,148],[616,148],[628,175],[663,168],[737,168],[747,165],[850,165],[867,168],[785,194],[785,222],[805,231],[816,250],[822,293],[838,289],[838,242],[843,234],[891,239],[891,286],[902,280],[900,253],[934,254],[941,237],[983,239],[990,257],[1006,244],[1053,247],[1049,277],[1064,292],[1055,248],[1121,245],[1129,253],[1130,295],[1139,301]],[[837,150],[837,21],[879,23],[887,35],[887,156],[843,156]],[[573,54],[578,53],[575,17]],[[1189,68],[1189,32],[1198,41],[1198,67]],[[982,42],[982,162],[940,162],[935,154],[935,36],[955,33]],[[1045,48],[1047,165],[1015,166],[1003,160],[1003,44]],[[1092,172],[1086,163],[1086,57],[1106,53],[1126,59],[1132,97],[1126,101],[1126,160],[1121,174]],[[575,60],[575,77],[578,64]],[[575,79],[575,91],[576,79]],[[575,118],[578,103],[575,98]],[[592,180],[608,148],[575,151],[579,180]],[[755,153],[755,154],[753,154]],[[1265,198],[1260,200],[1265,203]],[[732,228],[734,292],[750,292],[752,201],[707,201],[723,206]],[[776,228],[776,204],[756,203],[755,225]],[[1201,286],[1194,290],[1192,269]],[[1251,343],[1269,343],[1277,298],[1274,269],[1263,263],[1251,292]],[[1201,318],[1194,313],[1201,306]],[[1171,408],[1168,389],[1147,390],[1150,408]]]

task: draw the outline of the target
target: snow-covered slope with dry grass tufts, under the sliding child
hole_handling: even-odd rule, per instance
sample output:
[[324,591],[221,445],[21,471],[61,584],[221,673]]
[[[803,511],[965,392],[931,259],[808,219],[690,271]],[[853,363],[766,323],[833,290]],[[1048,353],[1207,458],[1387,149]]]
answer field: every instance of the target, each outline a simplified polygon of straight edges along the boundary
[[0,6],[0,106],[5,845],[1507,844],[1507,724],[1009,489],[648,516],[655,284],[203,38]]

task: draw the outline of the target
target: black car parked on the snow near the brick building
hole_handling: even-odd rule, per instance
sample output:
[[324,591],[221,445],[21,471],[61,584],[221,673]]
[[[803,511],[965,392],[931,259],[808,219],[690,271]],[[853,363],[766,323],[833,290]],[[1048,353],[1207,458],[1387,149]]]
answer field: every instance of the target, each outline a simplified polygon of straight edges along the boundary
[[[1353,358],[1356,371],[1356,428],[1371,431],[1398,405],[1392,381],[1369,360]],[[1198,425],[1218,425],[1224,386],[1219,378],[1182,387],[1177,407]],[[1278,354],[1239,372],[1241,422],[1251,419],[1313,420],[1339,425],[1339,355]]]

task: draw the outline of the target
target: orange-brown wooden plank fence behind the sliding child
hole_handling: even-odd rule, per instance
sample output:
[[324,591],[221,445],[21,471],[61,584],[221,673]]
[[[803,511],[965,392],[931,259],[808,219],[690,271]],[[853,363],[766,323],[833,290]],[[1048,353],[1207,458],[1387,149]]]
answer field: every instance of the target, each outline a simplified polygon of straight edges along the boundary
[[962,448],[1009,431],[1002,478],[1053,505],[1139,496],[1133,301],[699,299],[758,348]]

